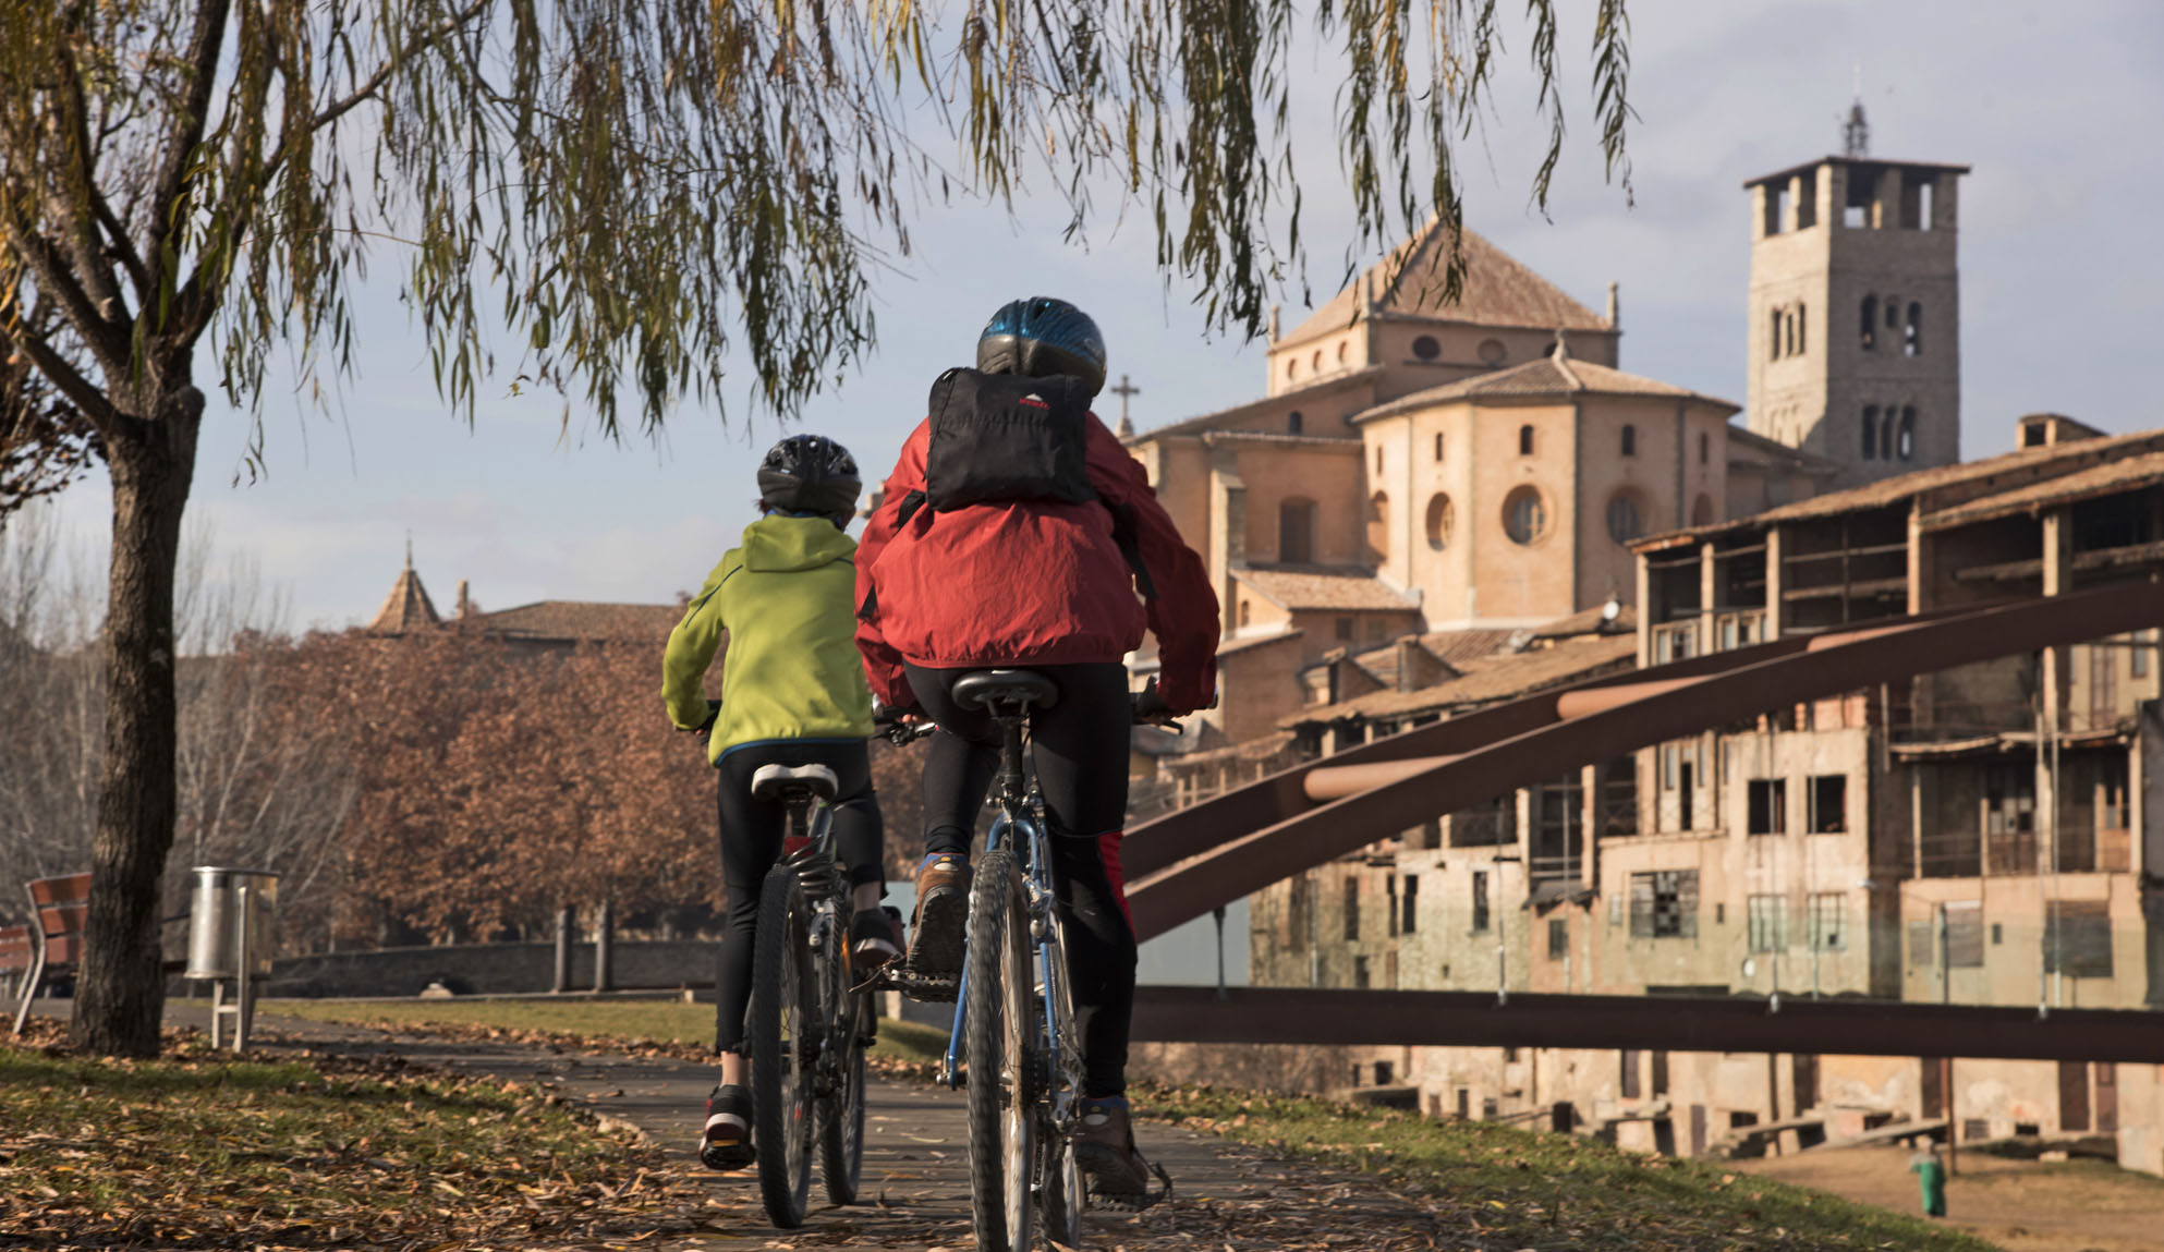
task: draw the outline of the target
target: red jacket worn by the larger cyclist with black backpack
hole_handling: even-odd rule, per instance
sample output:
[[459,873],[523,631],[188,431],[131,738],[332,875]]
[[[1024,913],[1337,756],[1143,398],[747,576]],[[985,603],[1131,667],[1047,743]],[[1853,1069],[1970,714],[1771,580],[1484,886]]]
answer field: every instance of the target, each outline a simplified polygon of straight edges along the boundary
[[[920,668],[1117,662],[1158,636],[1158,694],[1179,714],[1216,694],[1218,603],[1210,573],[1149,489],[1143,465],[1095,415],[1086,471],[1099,500],[1015,500],[948,512],[902,500],[924,491],[931,419],[902,443],[879,510],[857,543],[857,649],[872,694],[915,705]],[[1147,603],[1112,538],[1112,508],[1132,506],[1134,538],[1156,586]]]

